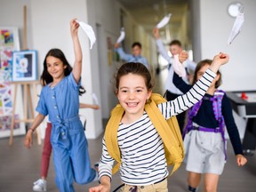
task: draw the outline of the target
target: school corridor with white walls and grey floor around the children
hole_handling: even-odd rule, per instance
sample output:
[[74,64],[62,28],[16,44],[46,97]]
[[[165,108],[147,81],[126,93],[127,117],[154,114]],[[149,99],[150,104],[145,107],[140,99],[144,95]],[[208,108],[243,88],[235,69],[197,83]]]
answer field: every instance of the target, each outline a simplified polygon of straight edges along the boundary
[[[159,29],[159,36],[167,52],[173,39],[180,40],[183,49],[188,52],[189,59],[196,63],[205,59],[212,60],[216,53],[227,52],[230,55],[230,60],[228,65],[220,69],[223,75],[223,84],[220,89],[225,92],[255,91],[256,76],[253,60],[255,60],[256,44],[254,37],[256,34],[256,1],[238,1],[245,8],[245,22],[239,35],[229,45],[227,45],[228,36],[236,17],[232,16],[232,12],[228,12],[228,8],[230,5],[237,4],[235,0],[0,0],[0,32],[2,27],[11,28],[17,32],[14,37],[18,42],[18,44],[15,42],[17,49],[12,51],[28,49],[37,52],[35,65],[36,80],[38,80],[44,69],[45,53],[53,47],[63,50],[67,55],[68,62],[73,65],[74,50],[70,37],[70,20],[76,18],[92,26],[96,42],[91,48],[90,39],[84,31],[79,29],[78,33],[81,36],[83,49],[81,84],[86,90],[79,101],[100,105],[99,110],[84,108],[79,110],[83,121],[86,119],[85,135],[93,167],[94,163],[100,161],[104,129],[111,109],[117,103],[113,76],[116,68],[124,64],[124,60],[121,60],[120,55],[116,53],[114,45],[122,28],[124,28],[125,37],[120,46],[125,52],[132,53],[134,42],[142,44],[141,55],[147,58],[152,75],[155,77],[154,92],[164,94],[169,63],[160,56],[156,46],[156,36],[152,34],[152,31],[153,28],[156,28],[156,24],[168,15],[171,17],[170,21]],[[26,7],[26,14],[24,14],[24,7]],[[0,35],[2,34],[0,33]],[[0,38],[1,44],[2,39]],[[6,49],[9,50],[9,47]],[[4,51],[4,48],[0,46],[0,61],[4,58],[1,54]],[[170,56],[171,52],[168,54]],[[10,68],[6,69],[3,66],[1,62],[0,72],[6,72],[7,69],[12,68],[9,66]],[[1,85],[4,77],[2,73],[0,75]],[[252,84],[253,82],[254,84]],[[38,81],[36,100],[41,90],[42,86]],[[19,101],[15,113],[20,118],[24,115],[23,109],[28,108],[28,106],[23,106],[28,103],[22,98],[22,93],[22,90],[18,89]],[[2,112],[3,98],[2,92],[0,92],[1,113],[4,113]],[[36,101],[33,103],[33,108],[36,114]],[[30,109],[26,115],[33,117]],[[10,114],[6,116],[10,116]],[[235,114],[235,120],[243,140],[245,118]],[[43,130],[42,145],[37,144],[36,135],[34,135],[33,147],[28,149],[24,146],[24,134],[28,131],[29,126],[30,124],[20,126],[19,129],[22,129],[22,132],[15,133],[13,144],[10,146],[9,134],[7,136],[3,134],[6,130],[2,129],[2,121],[0,121],[0,192],[33,191],[33,182],[40,178],[45,127],[40,127],[41,131]],[[238,167],[229,140],[227,144],[228,162],[223,174],[220,175],[218,192],[255,192],[256,151],[252,151],[252,155],[246,156],[248,160],[246,165]],[[169,169],[172,170],[172,167]],[[204,191],[203,180],[204,178],[196,192]],[[111,191],[120,184],[120,177],[116,173],[111,183]],[[76,192],[84,192],[96,185],[98,182],[84,186],[75,183],[74,186]],[[187,188],[187,172],[185,164],[181,164],[180,169],[168,178],[168,190],[170,192],[186,192]],[[58,191],[51,157],[47,192]]]

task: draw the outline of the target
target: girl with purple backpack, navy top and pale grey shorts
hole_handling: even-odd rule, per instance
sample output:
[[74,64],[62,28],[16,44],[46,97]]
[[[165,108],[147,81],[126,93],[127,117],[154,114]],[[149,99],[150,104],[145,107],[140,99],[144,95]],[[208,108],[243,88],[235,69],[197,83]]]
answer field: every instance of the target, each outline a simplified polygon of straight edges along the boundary
[[[186,54],[186,53],[185,53]],[[200,61],[195,70],[192,84],[200,79],[214,60]],[[192,85],[186,84],[176,73],[173,83],[181,92],[188,92]],[[239,132],[232,115],[232,108],[225,92],[217,88],[221,84],[221,74],[217,76],[202,100],[188,111],[188,124],[183,132],[186,170],[188,171],[188,191],[195,192],[204,174],[204,191],[216,192],[220,174],[227,160],[225,124],[236,154],[238,166],[246,164]]]

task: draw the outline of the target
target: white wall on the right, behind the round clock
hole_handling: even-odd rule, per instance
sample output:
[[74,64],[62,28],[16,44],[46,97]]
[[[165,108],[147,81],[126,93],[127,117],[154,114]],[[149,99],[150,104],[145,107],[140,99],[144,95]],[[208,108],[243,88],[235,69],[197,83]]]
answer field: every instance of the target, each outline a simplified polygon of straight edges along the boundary
[[[256,38],[256,1],[240,0],[244,4],[244,26],[234,42],[227,46],[234,18],[228,15],[228,4],[232,0],[193,0],[193,51],[196,61],[212,59],[218,52],[227,52],[228,64],[222,68],[224,91],[255,91],[256,76],[254,53]],[[235,121],[241,138],[244,137],[245,120],[237,116]]]

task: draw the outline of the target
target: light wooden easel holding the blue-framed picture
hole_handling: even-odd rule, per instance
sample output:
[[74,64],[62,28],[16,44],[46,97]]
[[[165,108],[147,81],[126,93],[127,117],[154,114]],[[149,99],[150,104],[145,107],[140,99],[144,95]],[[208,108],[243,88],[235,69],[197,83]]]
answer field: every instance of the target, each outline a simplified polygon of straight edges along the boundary
[[[27,46],[27,6],[24,5],[23,7],[23,25],[24,25],[24,33],[23,33],[23,44],[22,50],[28,50]],[[11,124],[11,134],[9,145],[13,143],[13,129],[15,123],[32,123],[34,121],[34,109],[33,109],[33,102],[31,98],[30,88],[32,88],[33,96],[34,96],[34,103],[36,103],[36,84],[39,84],[39,81],[29,81],[29,82],[12,82],[14,84],[14,94],[13,94],[13,105],[12,105],[12,124]],[[20,85],[21,92],[23,90],[23,108],[24,108],[24,118],[15,120],[15,109],[16,109],[16,99],[17,99],[17,88]],[[31,112],[31,118],[28,119],[28,104]],[[37,129],[37,143],[41,144],[41,137],[40,131]]]

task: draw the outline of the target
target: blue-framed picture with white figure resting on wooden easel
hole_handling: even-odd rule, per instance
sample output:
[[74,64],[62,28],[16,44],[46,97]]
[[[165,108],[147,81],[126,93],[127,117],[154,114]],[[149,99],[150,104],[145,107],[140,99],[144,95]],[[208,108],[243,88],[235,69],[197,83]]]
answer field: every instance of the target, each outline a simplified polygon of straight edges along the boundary
[[12,52],[12,82],[37,80],[37,51]]

